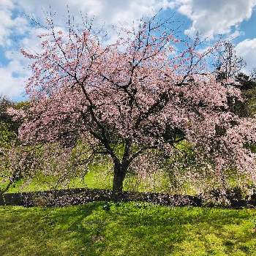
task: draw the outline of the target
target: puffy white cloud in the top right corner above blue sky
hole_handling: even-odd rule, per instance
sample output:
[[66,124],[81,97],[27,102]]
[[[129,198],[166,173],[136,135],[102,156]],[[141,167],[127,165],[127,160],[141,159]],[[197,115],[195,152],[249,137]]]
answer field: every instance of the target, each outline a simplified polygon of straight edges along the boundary
[[229,34],[232,28],[252,15],[255,0],[176,0],[178,12],[192,20],[185,31],[194,35],[197,31],[204,37]]

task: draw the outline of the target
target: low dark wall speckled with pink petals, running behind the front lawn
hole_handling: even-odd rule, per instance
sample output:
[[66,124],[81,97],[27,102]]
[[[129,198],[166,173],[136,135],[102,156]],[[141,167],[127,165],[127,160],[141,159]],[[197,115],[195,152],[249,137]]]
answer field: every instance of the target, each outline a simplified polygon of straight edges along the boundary
[[[0,196],[0,206],[74,206],[93,201],[111,201],[111,190],[103,189],[59,189],[43,192],[7,193]],[[151,192],[123,192],[121,201],[142,201],[165,206],[206,206],[201,197],[189,195],[167,195]],[[210,206],[210,205],[208,205]],[[213,205],[212,205],[213,206]],[[256,208],[256,200],[230,200],[227,208]]]

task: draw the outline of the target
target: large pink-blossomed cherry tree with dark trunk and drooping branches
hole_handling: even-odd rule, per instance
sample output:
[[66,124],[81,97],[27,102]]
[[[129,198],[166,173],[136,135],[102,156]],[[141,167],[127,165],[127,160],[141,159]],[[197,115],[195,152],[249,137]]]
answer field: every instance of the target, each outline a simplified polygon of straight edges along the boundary
[[221,42],[202,51],[199,39],[177,39],[170,20],[157,16],[119,28],[112,44],[86,20],[67,31],[52,19],[48,25],[41,52],[22,50],[32,60],[30,107],[9,111],[23,120],[24,143],[72,148],[83,140],[86,159],[113,162],[115,193],[129,168],[154,168],[156,152],[171,157],[182,141],[221,181],[227,169],[255,180],[247,146],[256,140],[255,119],[233,113],[230,98],[242,100],[240,89],[232,78],[220,83],[207,64]]

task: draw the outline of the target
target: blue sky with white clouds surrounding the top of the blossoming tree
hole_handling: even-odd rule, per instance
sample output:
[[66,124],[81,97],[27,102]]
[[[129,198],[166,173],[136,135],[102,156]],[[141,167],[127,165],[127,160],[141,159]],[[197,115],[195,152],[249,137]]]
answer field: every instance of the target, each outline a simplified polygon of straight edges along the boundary
[[182,34],[192,36],[198,31],[209,40],[219,34],[233,38],[247,69],[256,67],[256,0],[0,0],[0,94],[15,100],[24,95],[29,69],[20,48],[39,47],[40,29],[31,18],[44,20],[50,7],[56,12],[57,25],[64,26],[67,5],[72,15],[87,13],[105,26],[129,26],[162,8],[162,16],[175,14]]

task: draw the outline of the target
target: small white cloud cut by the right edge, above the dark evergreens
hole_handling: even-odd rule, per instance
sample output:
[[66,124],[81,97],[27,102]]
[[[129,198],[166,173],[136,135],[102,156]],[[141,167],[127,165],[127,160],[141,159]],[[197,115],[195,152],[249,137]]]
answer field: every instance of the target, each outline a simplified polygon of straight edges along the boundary
[[256,38],[245,39],[236,45],[236,53],[246,61],[246,71],[256,68]]

